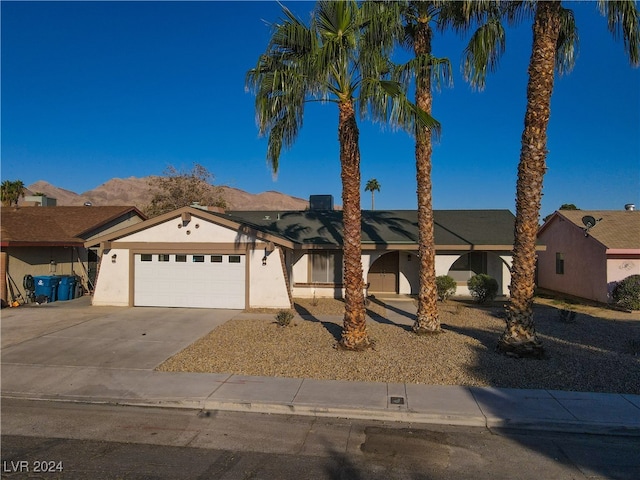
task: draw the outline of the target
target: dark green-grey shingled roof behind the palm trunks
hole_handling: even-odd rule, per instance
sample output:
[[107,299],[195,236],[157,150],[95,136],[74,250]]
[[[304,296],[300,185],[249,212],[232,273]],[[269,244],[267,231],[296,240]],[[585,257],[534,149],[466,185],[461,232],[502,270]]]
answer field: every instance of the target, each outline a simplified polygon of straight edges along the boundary
[[[305,245],[341,246],[342,211],[231,211],[226,218]],[[511,249],[515,217],[508,210],[436,210],[435,243],[439,248],[492,246]],[[416,210],[364,210],[363,245],[418,242]]]

